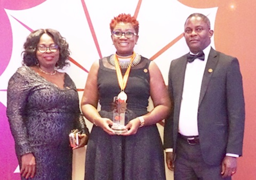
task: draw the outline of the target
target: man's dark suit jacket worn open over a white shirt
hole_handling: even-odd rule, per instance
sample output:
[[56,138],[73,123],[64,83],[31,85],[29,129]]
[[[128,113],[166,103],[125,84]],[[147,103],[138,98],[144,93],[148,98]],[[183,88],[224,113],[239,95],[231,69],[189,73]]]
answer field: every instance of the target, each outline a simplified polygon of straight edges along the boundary
[[[173,111],[165,121],[164,148],[175,153],[187,55],[172,61],[169,93]],[[237,58],[211,48],[205,67],[198,106],[198,131],[204,161],[219,165],[226,153],[242,156],[244,95]]]

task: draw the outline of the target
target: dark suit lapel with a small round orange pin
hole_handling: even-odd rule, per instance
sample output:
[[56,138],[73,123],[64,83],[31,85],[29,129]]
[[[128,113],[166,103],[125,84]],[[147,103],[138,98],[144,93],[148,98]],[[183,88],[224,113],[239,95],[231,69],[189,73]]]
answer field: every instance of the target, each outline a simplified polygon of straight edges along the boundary
[[217,52],[213,48],[211,48],[210,54],[208,57],[208,61],[205,66],[203,80],[202,80],[201,92],[200,92],[200,98],[199,98],[199,106],[201,105],[201,102],[204,98],[205,92],[206,92],[208,84],[211,80],[212,74],[214,73],[215,66],[217,65],[217,62],[218,62]]

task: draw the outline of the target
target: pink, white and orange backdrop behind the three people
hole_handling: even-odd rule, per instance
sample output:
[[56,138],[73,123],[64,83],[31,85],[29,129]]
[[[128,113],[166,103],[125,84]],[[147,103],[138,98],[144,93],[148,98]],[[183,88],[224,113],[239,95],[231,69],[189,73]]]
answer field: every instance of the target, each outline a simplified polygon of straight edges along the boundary
[[[67,71],[81,96],[87,70],[93,61],[114,53],[109,21],[119,13],[131,13],[140,22],[136,51],[153,59],[165,82],[172,59],[187,53],[181,36],[187,16],[194,12],[209,15],[214,29],[212,46],[236,56],[241,65],[246,103],[243,157],[238,160],[234,179],[256,177],[256,1],[250,0],[1,0],[0,1],[0,177],[19,179],[14,141],[6,118],[7,81],[21,64],[22,45],[31,30],[53,28],[67,38],[71,66]],[[57,16],[51,13],[58,14]]]

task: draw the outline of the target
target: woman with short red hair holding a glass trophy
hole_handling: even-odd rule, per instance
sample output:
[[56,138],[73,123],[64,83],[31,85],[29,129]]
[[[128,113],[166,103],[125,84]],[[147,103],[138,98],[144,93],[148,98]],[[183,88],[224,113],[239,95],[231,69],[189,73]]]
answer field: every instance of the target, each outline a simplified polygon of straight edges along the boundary
[[165,179],[156,123],[169,115],[171,103],[162,74],[154,62],[133,51],[139,37],[134,17],[119,14],[110,30],[116,53],[93,63],[82,98],[82,112],[94,123],[85,179]]

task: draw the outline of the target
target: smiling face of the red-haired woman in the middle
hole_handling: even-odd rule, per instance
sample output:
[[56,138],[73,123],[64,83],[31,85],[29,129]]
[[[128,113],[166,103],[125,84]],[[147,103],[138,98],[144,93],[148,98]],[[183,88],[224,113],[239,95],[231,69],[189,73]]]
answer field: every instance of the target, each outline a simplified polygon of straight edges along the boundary
[[[121,31],[121,32],[134,32],[135,30],[131,23],[123,23],[119,22],[116,24],[113,31]],[[121,37],[115,37],[113,34],[111,35],[112,41],[116,47],[116,53],[119,56],[130,56],[133,53],[133,48],[138,41],[138,36],[133,36],[132,38],[126,38],[124,35]]]

